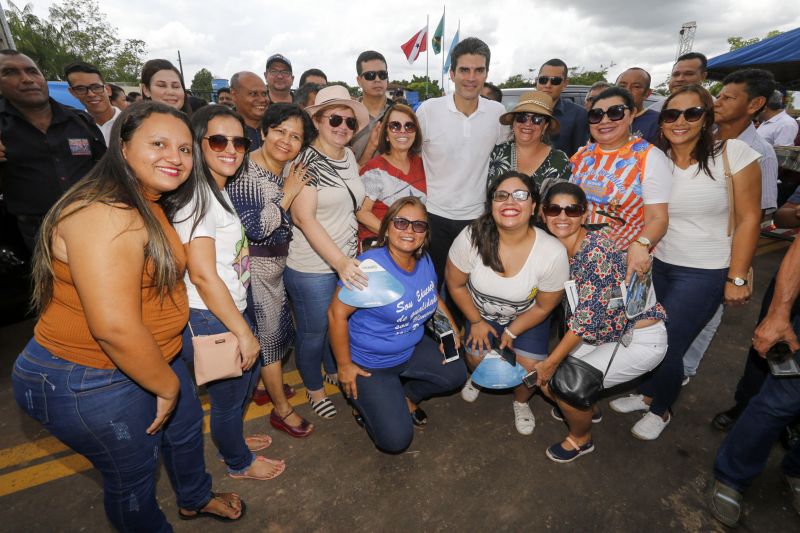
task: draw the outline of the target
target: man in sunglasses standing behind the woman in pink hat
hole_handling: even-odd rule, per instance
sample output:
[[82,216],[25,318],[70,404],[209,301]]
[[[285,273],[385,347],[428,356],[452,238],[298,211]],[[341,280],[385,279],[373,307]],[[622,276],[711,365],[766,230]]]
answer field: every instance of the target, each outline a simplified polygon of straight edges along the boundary
[[353,136],[351,148],[363,166],[372,159],[378,149],[378,133],[375,126],[380,122],[392,102],[386,98],[389,87],[389,71],[383,54],[374,50],[361,52],[356,59],[356,83],[361,87],[361,103],[369,111],[369,125]]

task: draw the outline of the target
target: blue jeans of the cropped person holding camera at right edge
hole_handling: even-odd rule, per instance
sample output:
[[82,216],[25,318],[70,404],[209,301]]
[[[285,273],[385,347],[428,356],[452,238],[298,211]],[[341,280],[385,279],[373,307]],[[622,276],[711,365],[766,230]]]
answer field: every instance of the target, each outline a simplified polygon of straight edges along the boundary
[[[797,323],[795,331],[798,331]],[[800,362],[800,358],[796,360]],[[767,464],[781,431],[800,415],[800,377],[767,376],[761,391],[750,400],[731,432],[722,441],[714,476],[744,492]],[[800,477],[800,444],[783,458],[783,472]]]

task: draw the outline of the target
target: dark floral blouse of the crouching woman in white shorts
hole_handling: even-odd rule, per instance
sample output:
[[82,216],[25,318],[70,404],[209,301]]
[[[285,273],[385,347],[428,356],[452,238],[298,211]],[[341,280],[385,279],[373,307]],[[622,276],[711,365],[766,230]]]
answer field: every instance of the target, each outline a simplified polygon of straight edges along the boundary
[[630,344],[638,320],[667,319],[667,312],[656,304],[633,320],[625,309],[609,309],[615,287],[625,282],[627,262],[625,253],[617,250],[606,231],[590,231],[580,250],[569,260],[570,278],[575,281],[578,303],[567,319],[567,327],[583,342],[600,345],[620,341]]

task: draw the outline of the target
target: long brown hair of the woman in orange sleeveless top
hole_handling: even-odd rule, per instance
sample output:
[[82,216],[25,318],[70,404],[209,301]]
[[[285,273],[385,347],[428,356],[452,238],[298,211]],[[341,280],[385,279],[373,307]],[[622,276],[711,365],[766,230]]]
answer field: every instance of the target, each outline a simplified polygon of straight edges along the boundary
[[[94,203],[123,205],[134,209],[142,217],[147,232],[147,244],[144,248],[145,260],[152,261],[153,279],[158,292],[163,297],[170,292],[178,281],[178,269],[175,256],[153,211],[148,205],[141,183],[133,173],[122,153],[122,146],[129,142],[139,127],[151,115],[169,115],[186,125],[191,134],[189,119],[174,107],[160,102],[138,102],[126,108],[111,128],[108,150],[102,159],[78,183],[73,185],[50,208],[42,221],[39,240],[33,255],[33,308],[41,313],[53,297],[53,248],[52,238],[56,226]],[[168,218],[188,202],[193,193],[193,172],[181,188],[184,194],[176,191],[164,193],[157,203],[164,209]],[[188,184],[188,186],[187,186]],[[69,209],[68,209],[69,208]]]

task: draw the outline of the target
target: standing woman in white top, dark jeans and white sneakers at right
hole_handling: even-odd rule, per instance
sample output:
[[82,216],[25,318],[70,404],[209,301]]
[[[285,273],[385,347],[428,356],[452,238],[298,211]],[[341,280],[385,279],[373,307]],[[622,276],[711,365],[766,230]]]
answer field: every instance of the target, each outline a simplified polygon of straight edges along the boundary
[[720,303],[747,301],[747,273],[761,221],[759,154],[736,139],[714,140],[707,90],[699,85],[676,90],[664,102],[659,122],[673,185],[669,229],[655,251],[653,285],[669,314],[669,350],[639,394],[611,402],[618,412],[645,411],[631,429],[643,440],[657,439],[669,424],[681,389],[683,356]]

